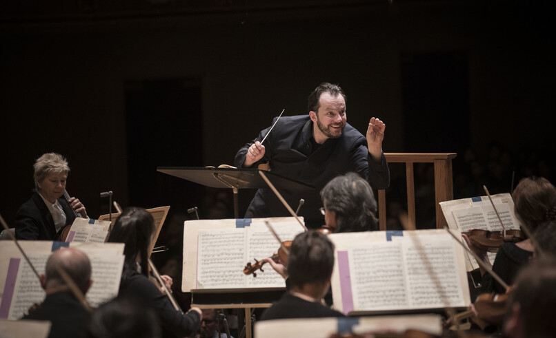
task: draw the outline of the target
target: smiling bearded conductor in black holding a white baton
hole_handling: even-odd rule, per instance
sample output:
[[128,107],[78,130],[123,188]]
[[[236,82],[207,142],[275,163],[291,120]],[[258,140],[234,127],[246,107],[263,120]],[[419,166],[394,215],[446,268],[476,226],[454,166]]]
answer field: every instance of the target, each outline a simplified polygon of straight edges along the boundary
[[[310,193],[281,191],[281,194],[290,205],[304,198],[300,215],[308,227],[316,228],[323,223],[318,193],[329,180],[355,171],[371,187],[386,189],[390,171],[382,153],[386,125],[371,118],[366,137],[348,125],[346,95],[338,85],[321,83],[309,95],[308,110],[308,115],[281,117],[271,132],[270,127],[261,131],[255,140],[239,149],[235,165],[244,168],[268,163],[274,173],[312,184],[315,191]],[[286,215],[288,211],[272,191],[259,189],[245,217]]]

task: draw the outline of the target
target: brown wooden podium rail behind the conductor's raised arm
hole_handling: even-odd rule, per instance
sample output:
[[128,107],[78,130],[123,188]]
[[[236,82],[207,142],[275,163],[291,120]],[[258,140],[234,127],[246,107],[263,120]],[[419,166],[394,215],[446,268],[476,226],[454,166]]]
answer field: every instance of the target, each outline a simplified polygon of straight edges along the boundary
[[[415,181],[413,163],[434,163],[435,165],[435,207],[436,226],[442,229],[446,219],[439,202],[453,200],[452,159],[456,153],[385,153],[388,163],[406,164],[406,181],[408,194],[408,229],[415,230]],[[386,230],[386,191],[379,190],[379,229]]]

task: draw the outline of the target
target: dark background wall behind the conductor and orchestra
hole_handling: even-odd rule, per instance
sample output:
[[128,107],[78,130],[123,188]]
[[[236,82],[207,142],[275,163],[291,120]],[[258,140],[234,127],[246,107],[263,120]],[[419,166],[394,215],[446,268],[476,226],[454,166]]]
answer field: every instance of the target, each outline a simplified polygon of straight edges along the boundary
[[[282,109],[306,114],[322,81],[344,88],[360,131],[371,116],[386,122],[386,152],[457,152],[459,176],[466,149],[486,168],[497,142],[511,167],[546,158],[550,178],[549,11],[484,2],[3,3],[0,213],[12,224],[34,160],[57,151],[72,168],[68,191],[92,217],[108,211],[99,198],[108,190],[124,207],[230,215],[230,192],[218,207],[214,189],[156,167],[232,164]],[[241,192],[242,210],[251,193]]]

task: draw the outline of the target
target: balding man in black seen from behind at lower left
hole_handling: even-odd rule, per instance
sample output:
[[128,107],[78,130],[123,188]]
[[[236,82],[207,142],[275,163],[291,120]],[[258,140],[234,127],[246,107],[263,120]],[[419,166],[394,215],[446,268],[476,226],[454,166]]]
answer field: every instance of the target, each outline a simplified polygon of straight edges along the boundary
[[63,268],[85,295],[92,284],[91,265],[85,253],[73,248],[54,251],[46,262],[45,273],[40,275],[46,298],[39,308],[23,319],[48,320],[52,322],[48,337],[85,337],[90,317],[70,287],[57,271]]

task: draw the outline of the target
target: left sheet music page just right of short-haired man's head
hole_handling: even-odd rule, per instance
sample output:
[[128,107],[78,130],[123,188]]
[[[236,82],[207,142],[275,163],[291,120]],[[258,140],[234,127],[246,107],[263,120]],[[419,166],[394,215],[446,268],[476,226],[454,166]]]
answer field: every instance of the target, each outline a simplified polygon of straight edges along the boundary
[[401,243],[375,243],[348,250],[355,308],[408,305]]

